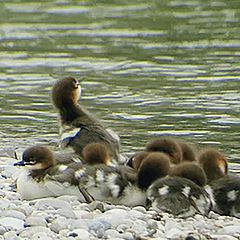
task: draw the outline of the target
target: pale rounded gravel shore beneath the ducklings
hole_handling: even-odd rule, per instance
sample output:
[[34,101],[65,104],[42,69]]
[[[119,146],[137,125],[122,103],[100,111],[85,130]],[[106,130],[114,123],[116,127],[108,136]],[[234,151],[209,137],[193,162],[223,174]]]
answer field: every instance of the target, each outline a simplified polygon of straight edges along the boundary
[[75,196],[22,200],[16,160],[1,155],[0,239],[240,239],[240,219],[214,212],[182,219],[142,206],[80,203]]

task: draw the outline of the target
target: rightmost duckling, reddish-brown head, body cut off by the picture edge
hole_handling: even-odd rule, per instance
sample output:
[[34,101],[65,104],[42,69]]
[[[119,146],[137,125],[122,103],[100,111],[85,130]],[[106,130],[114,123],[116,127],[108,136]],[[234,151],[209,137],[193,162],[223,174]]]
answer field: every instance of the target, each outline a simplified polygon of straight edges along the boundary
[[212,197],[213,211],[240,217],[240,177],[229,175],[227,161],[217,149],[206,149],[199,157],[208,178],[205,189]]

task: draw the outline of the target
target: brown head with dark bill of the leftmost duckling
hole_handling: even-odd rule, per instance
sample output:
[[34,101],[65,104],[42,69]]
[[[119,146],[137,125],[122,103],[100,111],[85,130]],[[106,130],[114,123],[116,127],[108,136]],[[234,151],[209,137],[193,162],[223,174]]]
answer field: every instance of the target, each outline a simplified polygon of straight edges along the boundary
[[55,165],[53,152],[46,146],[35,145],[27,148],[22,161],[15,165],[30,166],[32,169],[47,169]]

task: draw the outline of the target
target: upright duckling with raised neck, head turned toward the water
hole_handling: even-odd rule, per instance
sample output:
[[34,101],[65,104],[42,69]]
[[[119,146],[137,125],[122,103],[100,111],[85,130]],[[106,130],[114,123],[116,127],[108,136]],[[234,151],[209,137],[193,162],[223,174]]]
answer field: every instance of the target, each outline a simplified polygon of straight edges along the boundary
[[118,160],[119,137],[78,104],[80,93],[80,85],[73,77],[57,81],[52,89],[53,104],[60,117],[61,147],[70,146],[82,157],[82,150],[88,143],[99,142]]

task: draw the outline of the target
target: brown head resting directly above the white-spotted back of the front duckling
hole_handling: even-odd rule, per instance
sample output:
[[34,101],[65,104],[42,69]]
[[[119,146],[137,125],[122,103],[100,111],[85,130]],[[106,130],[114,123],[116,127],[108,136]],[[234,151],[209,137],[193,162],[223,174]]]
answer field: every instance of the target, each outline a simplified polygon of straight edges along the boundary
[[204,186],[207,183],[207,177],[204,170],[193,162],[183,162],[171,167],[169,176],[188,178],[199,186]]

